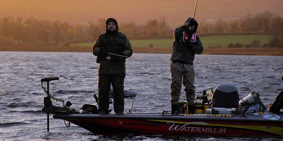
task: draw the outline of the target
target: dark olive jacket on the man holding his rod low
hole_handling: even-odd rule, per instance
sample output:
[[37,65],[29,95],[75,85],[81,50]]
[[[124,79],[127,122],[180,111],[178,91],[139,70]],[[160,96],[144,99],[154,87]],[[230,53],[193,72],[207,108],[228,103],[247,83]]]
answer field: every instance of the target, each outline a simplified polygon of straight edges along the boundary
[[133,54],[130,40],[126,35],[117,32],[114,35],[101,34],[93,45],[93,55],[97,56],[96,62],[99,63],[98,75],[126,75],[125,57],[110,55],[111,59],[107,60],[108,55],[102,55],[101,49],[107,52],[130,57]]

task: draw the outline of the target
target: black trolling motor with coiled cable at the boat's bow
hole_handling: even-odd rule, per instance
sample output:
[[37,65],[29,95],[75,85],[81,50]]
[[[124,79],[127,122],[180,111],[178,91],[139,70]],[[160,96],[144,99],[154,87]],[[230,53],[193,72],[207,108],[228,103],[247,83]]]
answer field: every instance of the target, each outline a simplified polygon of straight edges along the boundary
[[[57,99],[49,94],[49,82],[53,80],[59,80],[59,77],[46,77],[46,78],[40,79],[42,90],[47,95],[47,97],[44,97],[44,102],[43,102],[44,105],[42,107],[42,112],[47,113],[47,132],[49,132],[49,114],[50,113],[71,113],[73,111],[70,108],[70,106],[72,105],[71,102],[67,101],[66,105],[64,105],[64,100]],[[47,82],[47,90],[45,87],[43,87],[43,82]],[[51,99],[54,101],[63,102],[63,107],[52,105]]]

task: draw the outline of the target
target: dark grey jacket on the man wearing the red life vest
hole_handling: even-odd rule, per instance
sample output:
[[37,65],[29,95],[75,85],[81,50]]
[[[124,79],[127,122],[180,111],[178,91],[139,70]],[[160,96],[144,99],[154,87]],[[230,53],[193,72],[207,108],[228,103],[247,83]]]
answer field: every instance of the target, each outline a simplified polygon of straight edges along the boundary
[[195,54],[201,54],[203,52],[203,44],[197,35],[195,43],[189,41],[183,42],[182,37],[185,30],[185,25],[175,29],[173,50],[170,60],[176,60],[192,65],[195,59]]

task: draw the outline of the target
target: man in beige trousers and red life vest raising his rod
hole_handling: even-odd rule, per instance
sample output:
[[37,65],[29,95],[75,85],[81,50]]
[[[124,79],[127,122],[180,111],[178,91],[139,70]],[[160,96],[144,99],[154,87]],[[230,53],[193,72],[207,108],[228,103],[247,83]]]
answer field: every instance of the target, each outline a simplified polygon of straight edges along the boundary
[[186,94],[188,112],[194,112],[195,99],[195,72],[193,61],[195,54],[203,52],[203,44],[197,32],[197,21],[193,18],[188,18],[185,24],[174,31],[174,43],[171,54],[170,72],[171,72],[171,114],[177,114],[178,102],[180,98],[180,90],[183,85]]

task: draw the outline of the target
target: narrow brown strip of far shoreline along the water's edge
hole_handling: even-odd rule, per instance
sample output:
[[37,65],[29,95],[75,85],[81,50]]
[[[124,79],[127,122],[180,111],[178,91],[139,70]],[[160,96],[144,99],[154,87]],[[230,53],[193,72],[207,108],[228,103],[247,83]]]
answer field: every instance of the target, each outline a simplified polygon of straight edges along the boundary
[[[5,46],[0,45],[0,51],[35,51],[35,52],[92,52],[92,47],[75,46]],[[171,54],[171,48],[133,47],[133,53],[160,53]],[[279,48],[204,48],[205,55],[264,55],[283,56]]]

